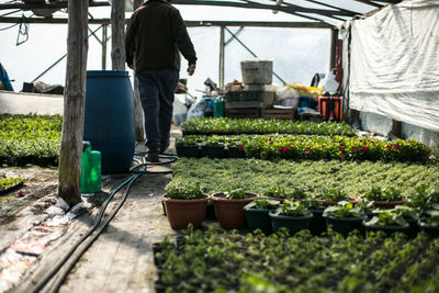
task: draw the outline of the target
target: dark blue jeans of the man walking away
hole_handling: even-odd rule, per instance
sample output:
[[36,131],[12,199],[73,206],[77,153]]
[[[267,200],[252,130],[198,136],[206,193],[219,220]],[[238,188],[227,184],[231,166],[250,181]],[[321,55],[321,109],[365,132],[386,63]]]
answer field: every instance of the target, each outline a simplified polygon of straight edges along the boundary
[[145,70],[136,74],[145,115],[146,146],[157,149],[169,142],[173,94],[179,80],[176,69]]

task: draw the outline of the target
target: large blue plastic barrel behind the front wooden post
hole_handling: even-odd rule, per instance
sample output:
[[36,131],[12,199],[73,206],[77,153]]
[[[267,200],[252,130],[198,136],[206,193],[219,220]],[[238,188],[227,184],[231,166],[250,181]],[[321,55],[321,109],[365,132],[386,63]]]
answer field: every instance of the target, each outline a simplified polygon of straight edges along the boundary
[[134,98],[127,71],[87,71],[83,140],[101,151],[101,172],[130,170],[134,157]]

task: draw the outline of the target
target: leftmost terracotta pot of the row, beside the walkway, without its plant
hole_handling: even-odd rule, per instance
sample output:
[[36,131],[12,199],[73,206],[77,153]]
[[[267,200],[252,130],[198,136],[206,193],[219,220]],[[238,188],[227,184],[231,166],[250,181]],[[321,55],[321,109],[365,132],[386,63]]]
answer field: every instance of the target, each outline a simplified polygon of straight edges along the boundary
[[206,214],[209,196],[198,200],[173,200],[162,196],[166,215],[173,229],[185,229],[189,224],[200,228]]

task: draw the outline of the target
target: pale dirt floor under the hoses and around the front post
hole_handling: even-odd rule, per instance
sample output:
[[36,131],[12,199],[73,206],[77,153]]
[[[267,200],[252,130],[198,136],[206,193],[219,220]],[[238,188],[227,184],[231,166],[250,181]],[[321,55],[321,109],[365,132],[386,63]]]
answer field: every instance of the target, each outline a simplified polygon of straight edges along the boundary
[[[175,153],[173,142],[181,132],[172,128],[171,136],[169,153]],[[136,151],[145,151],[145,147],[138,145]],[[102,192],[85,198],[86,212],[71,218],[55,209],[58,180],[55,168],[2,168],[1,173],[22,176],[26,181],[21,189],[23,198],[16,191],[0,198],[0,292],[32,292],[93,226],[109,194],[131,176],[103,176]],[[170,179],[171,174],[143,174],[134,182],[122,209],[79,259],[59,292],[154,292],[157,277],[151,245],[166,235],[176,235],[160,203]],[[124,191],[115,194],[101,223],[116,209]],[[58,275],[42,292],[48,292]]]

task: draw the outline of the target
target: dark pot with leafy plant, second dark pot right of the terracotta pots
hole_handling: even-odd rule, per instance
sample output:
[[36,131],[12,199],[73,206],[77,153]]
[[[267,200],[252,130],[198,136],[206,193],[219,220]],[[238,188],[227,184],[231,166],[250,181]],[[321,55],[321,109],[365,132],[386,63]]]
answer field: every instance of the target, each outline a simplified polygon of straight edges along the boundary
[[288,228],[290,235],[309,228],[313,213],[301,202],[285,200],[275,211],[269,213],[273,232]]

